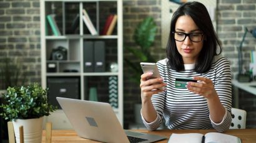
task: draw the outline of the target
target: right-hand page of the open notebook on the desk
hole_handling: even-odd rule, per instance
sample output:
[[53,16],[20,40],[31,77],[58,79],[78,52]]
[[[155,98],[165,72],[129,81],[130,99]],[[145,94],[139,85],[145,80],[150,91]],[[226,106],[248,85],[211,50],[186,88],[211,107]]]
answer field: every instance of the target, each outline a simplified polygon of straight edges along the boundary
[[218,132],[209,132],[205,134],[205,143],[236,143],[241,142],[239,137]]

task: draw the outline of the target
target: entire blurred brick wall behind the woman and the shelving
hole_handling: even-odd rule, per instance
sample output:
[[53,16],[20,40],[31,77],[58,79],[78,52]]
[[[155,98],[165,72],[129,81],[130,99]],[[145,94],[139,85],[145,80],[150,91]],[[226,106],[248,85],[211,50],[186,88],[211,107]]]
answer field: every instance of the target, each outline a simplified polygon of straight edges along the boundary
[[[134,27],[145,16],[153,16],[159,28],[152,53],[158,60],[165,58],[165,50],[160,48],[160,0],[124,0],[124,46],[136,46],[132,40]],[[224,47],[224,56],[231,63],[232,75],[237,74],[237,45],[242,40],[245,26],[256,27],[255,0],[219,0],[217,4],[217,33]],[[247,34],[244,42],[244,64],[249,63],[249,51],[256,50],[256,40]],[[27,83],[41,78],[40,65],[40,20],[39,0],[0,1],[0,60],[2,56],[19,57],[23,70],[27,73]],[[124,50],[124,57],[134,57]],[[248,66],[245,66],[248,68]],[[127,78],[129,71],[124,65],[124,124],[128,127],[134,121],[133,106],[139,103],[139,85]],[[138,79],[139,80],[139,79]],[[250,103],[250,104],[247,104]],[[240,107],[247,111],[247,127],[256,127],[256,96],[240,93]]]

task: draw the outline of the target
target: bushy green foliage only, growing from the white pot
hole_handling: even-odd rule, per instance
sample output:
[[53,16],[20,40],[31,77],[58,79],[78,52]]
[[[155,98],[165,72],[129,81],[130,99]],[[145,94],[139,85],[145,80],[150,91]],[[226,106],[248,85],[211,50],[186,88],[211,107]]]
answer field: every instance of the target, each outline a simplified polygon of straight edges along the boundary
[[57,108],[48,103],[47,90],[42,89],[38,83],[7,88],[4,103],[0,106],[0,115],[10,121],[48,116]]

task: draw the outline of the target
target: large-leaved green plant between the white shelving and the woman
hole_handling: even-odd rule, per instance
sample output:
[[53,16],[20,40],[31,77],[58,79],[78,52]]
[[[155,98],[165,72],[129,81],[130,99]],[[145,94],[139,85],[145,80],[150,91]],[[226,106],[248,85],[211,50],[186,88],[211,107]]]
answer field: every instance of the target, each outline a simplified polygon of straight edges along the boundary
[[140,83],[139,79],[142,73],[140,62],[156,62],[150,53],[150,47],[154,43],[156,32],[157,25],[155,24],[154,19],[152,17],[146,17],[144,21],[137,25],[133,35],[134,42],[139,45],[139,48],[126,47],[126,50],[137,58],[137,61],[130,61],[129,59],[124,58],[127,65],[129,65],[130,70],[132,70],[130,80],[137,84]]

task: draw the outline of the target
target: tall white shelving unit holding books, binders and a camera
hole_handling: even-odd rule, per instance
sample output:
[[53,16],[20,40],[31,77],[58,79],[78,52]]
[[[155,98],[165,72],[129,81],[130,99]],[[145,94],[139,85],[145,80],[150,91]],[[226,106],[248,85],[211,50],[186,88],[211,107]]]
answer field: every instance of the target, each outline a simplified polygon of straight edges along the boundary
[[[40,6],[41,82],[49,87],[50,102],[57,104],[56,96],[89,99],[91,88],[96,88],[98,101],[111,102],[123,124],[122,0],[41,0]],[[96,35],[84,22],[83,9]],[[112,14],[117,15],[112,33],[100,35]],[[112,63],[118,63],[118,71],[111,72]],[[45,121],[58,122],[58,116],[64,113],[56,111]],[[66,125],[58,122],[54,126],[60,127]]]

